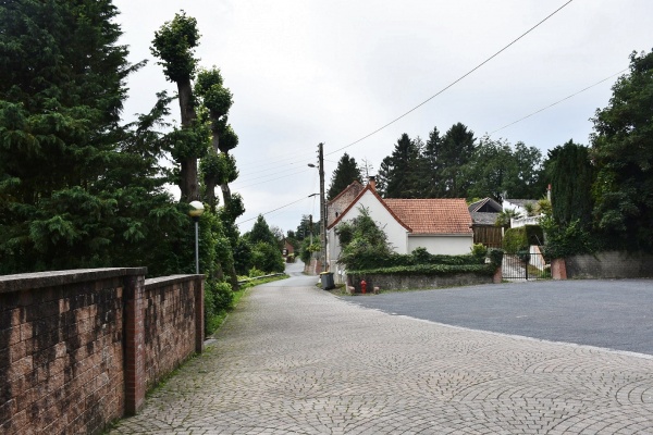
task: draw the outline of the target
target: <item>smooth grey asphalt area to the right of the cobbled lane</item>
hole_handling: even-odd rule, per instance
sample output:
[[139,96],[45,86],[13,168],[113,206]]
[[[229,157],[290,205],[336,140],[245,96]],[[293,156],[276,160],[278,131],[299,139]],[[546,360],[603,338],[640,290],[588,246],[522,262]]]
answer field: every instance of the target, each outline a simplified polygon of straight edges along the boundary
[[471,330],[653,355],[653,279],[540,281],[345,299]]

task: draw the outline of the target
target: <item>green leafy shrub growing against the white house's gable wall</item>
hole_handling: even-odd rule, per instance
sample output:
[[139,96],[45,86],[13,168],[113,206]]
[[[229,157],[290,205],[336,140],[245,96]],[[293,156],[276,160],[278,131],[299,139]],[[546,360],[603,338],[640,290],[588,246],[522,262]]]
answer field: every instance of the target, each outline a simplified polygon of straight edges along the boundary
[[[369,268],[377,259],[390,256],[392,252],[387,236],[372,220],[365,207],[358,208],[360,214],[352,221],[341,223],[336,227],[336,235],[342,248],[337,262],[347,269]],[[345,232],[343,232],[347,228]],[[341,235],[350,234],[347,239]]]

